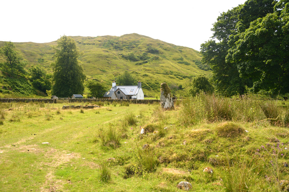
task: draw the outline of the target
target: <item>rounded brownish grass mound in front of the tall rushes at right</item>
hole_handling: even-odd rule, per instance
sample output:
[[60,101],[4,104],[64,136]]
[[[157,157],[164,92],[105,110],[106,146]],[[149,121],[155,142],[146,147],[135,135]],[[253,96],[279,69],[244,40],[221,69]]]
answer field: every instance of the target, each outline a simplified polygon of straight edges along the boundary
[[236,137],[244,133],[244,128],[238,126],[236,123],[224,122],[216,128],[216,134],[221,137]]

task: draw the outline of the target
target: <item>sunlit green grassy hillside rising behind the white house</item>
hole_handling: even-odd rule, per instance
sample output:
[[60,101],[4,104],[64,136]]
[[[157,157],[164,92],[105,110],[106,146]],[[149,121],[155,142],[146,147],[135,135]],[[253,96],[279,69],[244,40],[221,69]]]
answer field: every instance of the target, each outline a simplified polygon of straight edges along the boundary
[[[72,37],[83,51],[80,64],[90,79],[97,79],[111,86],[112,80],[125,70],[131,71],[137,80],[142,81],[144,94],[154,96],[160,89],[160,83],[167,82],[184,89],[176,94],[187,93],[191,77],[198,74],[210,75],[207,66],[201,66],[198,51],[152,39],[136,33],[116,36]],[[50,43],[14,43],[28,61],[28,66],[41,65],[48,72],[53,62],[53,48],[57,42]],[[0,46],[3,42],[0,41]],[[147,47],[157,49],[158,53],[146,53]],[[135,58],[129,60],[133,53]],[[0,58],[0,62],[2,62]]]

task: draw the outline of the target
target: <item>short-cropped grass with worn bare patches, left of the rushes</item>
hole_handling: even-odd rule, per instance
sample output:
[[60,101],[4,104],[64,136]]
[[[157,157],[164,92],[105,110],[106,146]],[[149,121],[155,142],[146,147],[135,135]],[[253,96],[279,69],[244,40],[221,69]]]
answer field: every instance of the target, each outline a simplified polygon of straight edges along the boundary
[[[40,109],[31,118],[18,109],[9,111],[1,127],[0,191],[113,191],[113,187],[104,187],[99,182],[97,171],[98,160],[109,157],[112,151],[93,140],[100,127],[121,121],[129,112],[137,114],[150,107],[117,105],[84,110],[84,113],[79,109],[60,110],[60,114],[56,113],[57,109]],[[9,122],[16,114],[20,121]],[[116,149],[113,153],[117,151],[120,152]]]

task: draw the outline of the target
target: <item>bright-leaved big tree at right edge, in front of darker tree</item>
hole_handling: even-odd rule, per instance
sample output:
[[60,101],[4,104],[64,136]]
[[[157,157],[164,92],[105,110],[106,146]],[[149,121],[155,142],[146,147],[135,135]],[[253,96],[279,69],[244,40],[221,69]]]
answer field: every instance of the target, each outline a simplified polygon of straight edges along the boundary
[[251,78],[253,90],[289,92],[289,1],[275,4],[273,13],[251,22],[230,39],[227,60],[236,63],[242,78]]

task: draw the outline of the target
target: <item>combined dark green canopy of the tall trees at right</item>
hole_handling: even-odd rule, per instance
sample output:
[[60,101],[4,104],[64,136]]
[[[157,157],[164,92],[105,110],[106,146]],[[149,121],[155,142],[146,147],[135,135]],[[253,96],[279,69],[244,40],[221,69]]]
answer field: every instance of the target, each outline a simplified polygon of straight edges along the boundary
[[288,6],[288,0],[247,0],[221,13],[212,39],[201,45],[217,91],[288,92]]

